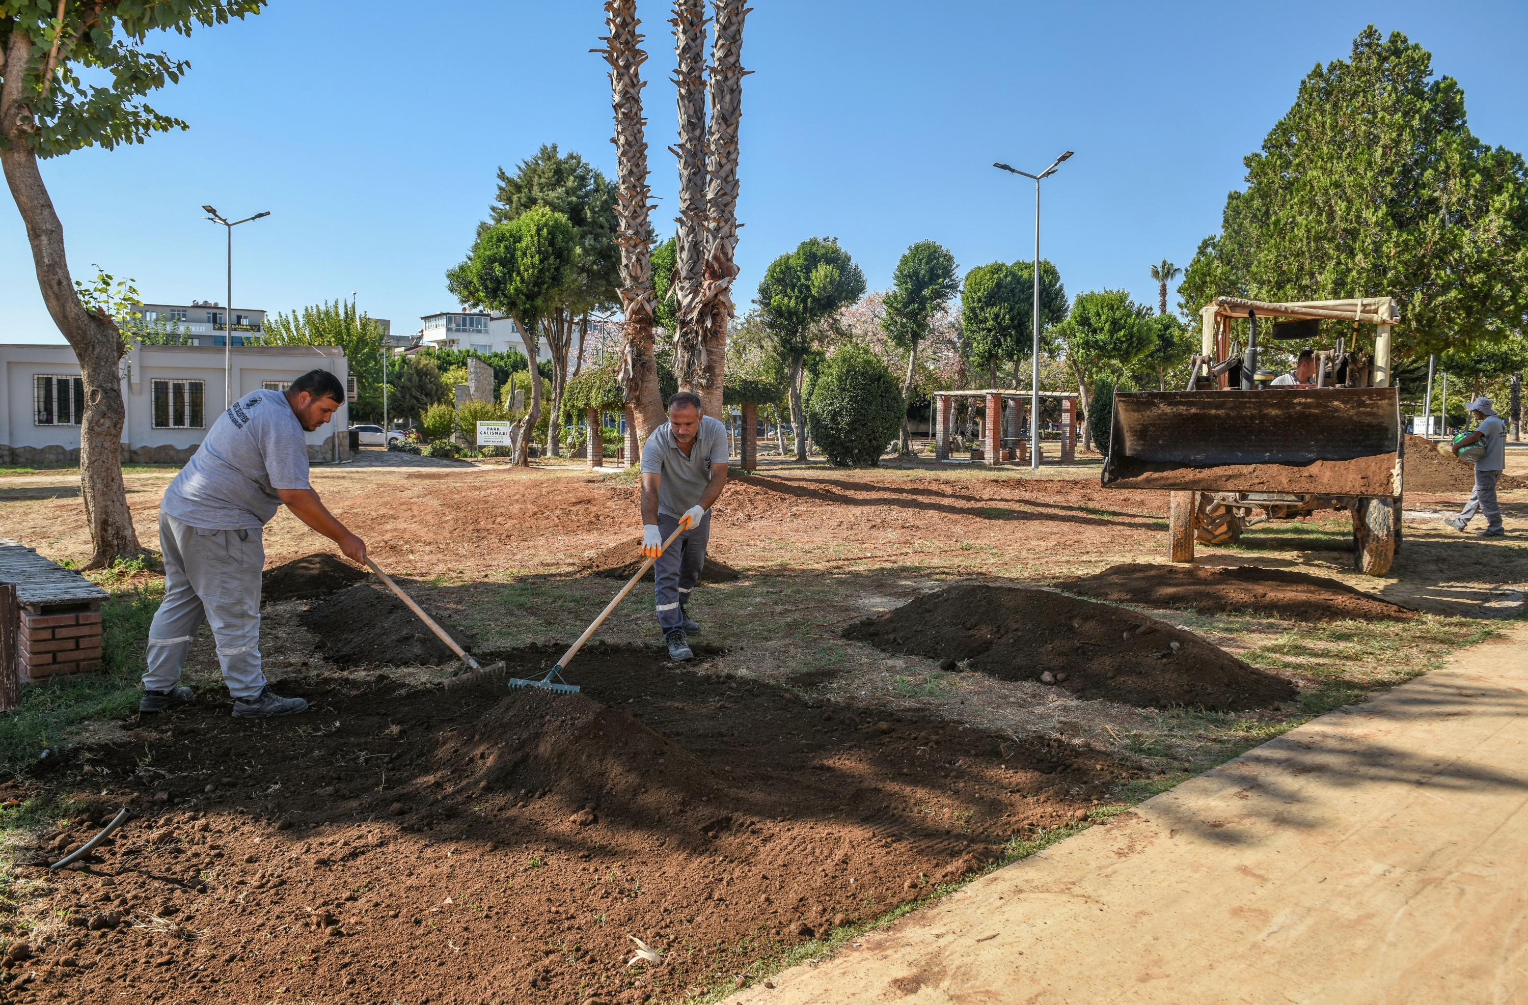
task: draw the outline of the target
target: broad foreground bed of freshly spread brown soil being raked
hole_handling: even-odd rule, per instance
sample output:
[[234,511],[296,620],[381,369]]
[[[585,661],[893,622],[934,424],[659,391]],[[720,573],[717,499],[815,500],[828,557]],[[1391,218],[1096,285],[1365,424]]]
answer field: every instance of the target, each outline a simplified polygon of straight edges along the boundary
[[[555,660],[498,655],[521,677]],[[643,649],[585,651],[576,680],[575,696],[284,680],[312,713],[232,719],[206,695],[58,758],[52,777],[78,773],[92,806],[58,840],[124,802],[142,816],[87,872],[18,866],[60,912],[121,912],[40,939],[32,987],[78,1002],[675,1000],[979,871],[1125,776],[1086,747]],[[628,936],[662,965],[626,967]],[[78,965],[46,962],[64,956]]]

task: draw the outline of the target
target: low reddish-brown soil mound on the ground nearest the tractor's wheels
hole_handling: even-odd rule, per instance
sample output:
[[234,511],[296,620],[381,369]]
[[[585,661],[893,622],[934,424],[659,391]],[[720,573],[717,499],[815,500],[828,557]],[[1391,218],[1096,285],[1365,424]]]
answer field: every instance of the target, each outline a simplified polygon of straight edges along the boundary
[[1415,616],[1348,583],[1284,568],[1203,565],[1111,565],[1096,576],[1056,583],[1068,593],[1154,608],[1256,611],[1300,622],[1363,619],[1400,622]]

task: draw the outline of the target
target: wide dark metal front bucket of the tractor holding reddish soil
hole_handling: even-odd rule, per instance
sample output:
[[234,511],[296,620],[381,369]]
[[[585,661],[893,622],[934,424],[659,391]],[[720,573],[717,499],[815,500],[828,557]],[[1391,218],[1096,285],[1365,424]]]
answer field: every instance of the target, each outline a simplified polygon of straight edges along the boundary
[[1397,388],[1114,396],[1106,489],[1400,496]]

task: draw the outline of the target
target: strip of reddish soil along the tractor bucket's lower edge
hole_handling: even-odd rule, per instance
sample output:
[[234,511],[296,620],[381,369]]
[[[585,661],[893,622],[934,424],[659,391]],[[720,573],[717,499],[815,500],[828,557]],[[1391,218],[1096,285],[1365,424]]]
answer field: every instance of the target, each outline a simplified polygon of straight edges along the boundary
[[[1410,463],[1410,449],[1406,455]],[[1218,464],[1186,467],[1166,461],[1126,458],[1118,464],[1111,489],[1192,489],[1203,492],[1314,492],[1320,495],[1389,496],[1394,487],[1395,454],[1372,454],[1348,461],[1308,464]],[[1407,469],[1406,487],[1410,486]]]

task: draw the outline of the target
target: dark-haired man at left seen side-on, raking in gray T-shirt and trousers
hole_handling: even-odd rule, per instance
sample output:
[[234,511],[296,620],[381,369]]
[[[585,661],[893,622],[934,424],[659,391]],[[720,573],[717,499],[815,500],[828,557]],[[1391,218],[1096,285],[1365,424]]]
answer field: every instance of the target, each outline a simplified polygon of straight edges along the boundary
[[301,698],[280,698],[260,671],[260,574],[264,525],[286,506],[332,538],[354,562],[367,545],[330,515],[307,484],[307,440],[345,400],[327,370],[312,370],[286,391],[255,391],[219,415],[202,446],[165,490],[159,548],[165,600],[148,626],[148,672],[139,712],[165,712],[189,701],[180,666],[202,622],[212,625],[217,660],[234,695],[234,715],[303,712]]

